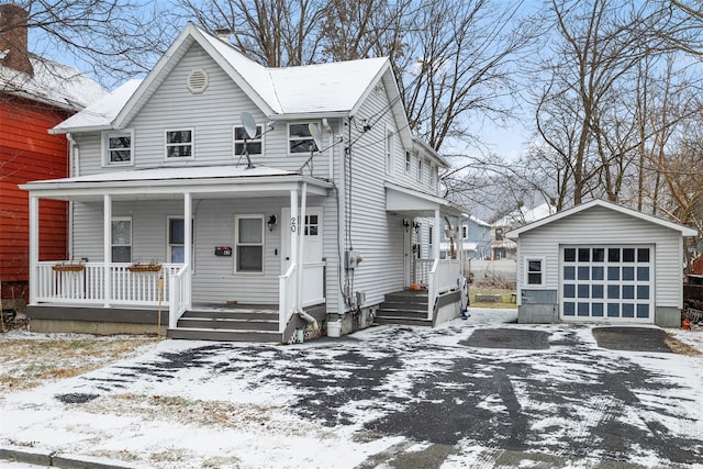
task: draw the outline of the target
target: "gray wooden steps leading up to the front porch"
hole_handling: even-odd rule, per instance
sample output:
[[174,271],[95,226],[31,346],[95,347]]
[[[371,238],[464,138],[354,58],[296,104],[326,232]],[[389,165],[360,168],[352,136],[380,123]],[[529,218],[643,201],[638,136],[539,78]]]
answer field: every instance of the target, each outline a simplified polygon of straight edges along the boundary
[[281,342],[278,312],[268,311],[187,311],[170,338],[226,342]]

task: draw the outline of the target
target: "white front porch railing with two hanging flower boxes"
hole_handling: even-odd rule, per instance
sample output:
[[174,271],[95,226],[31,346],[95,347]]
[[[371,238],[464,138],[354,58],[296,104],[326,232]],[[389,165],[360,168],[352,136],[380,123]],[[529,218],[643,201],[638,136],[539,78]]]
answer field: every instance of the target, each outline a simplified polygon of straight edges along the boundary
[[[131,264],[110,265],[110,298],[105,299],[104,265],[86,263],[80,266],[56,261],[38,263],[36,301],[53,303],[109,303],[121,305],[158,305],[158,278],[177,272],[181,265],[164,264],[159,271],[130,270]],[[169,284],[164,282],[164,297],[169,298]]]

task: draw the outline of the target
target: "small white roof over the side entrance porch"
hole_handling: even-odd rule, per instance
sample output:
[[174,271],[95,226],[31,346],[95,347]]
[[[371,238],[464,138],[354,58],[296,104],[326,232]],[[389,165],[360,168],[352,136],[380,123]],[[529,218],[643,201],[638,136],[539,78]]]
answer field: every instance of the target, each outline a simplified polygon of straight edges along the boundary
[[386,182],[387,212],[406,213],[412,216],[434,216],[436,210],[439,210],[443,215],[469,216],[461,206],[446,199]]

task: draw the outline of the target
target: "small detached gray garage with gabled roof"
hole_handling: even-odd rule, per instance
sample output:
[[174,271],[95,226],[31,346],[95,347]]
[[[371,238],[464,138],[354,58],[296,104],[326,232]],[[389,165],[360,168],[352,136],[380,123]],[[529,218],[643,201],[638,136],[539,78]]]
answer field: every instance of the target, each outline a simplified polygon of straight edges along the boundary
[[678,327],[688,226],[593,200],[513,230],[521,323]]

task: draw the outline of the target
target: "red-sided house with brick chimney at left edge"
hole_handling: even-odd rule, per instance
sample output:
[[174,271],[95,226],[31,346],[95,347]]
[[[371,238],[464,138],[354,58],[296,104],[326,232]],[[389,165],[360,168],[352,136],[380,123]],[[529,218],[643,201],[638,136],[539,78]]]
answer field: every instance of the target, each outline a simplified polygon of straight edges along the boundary
[[[29,300],[27,193],[18,185],[68,176],[67,141],[47,130],[104,94],[75,68],[29,54],[26,18],[16,4],[0,5],[0,298],[8,309]],[[68,204],[46,200],[41,211],[42,257],[65,259]]]

